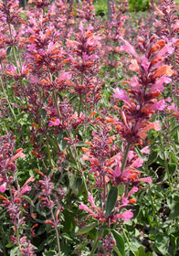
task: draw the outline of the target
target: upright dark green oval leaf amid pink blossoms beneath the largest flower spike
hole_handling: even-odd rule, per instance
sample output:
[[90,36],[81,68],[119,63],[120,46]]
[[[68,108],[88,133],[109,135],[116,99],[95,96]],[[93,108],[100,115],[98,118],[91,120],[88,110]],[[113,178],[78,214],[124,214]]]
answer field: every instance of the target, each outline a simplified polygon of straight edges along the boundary
[[117,197],[118,197],[118,187],[113,186],[111,187],[111,190],[107,198],[105,219],[109,217],[112,209],[115,207]]

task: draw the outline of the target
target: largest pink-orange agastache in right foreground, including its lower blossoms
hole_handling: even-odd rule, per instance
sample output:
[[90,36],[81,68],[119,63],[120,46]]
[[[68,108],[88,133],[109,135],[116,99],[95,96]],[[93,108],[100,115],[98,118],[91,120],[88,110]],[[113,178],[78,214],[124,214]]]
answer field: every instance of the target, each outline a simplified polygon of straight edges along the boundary
[[[83,149],[86,155],[82,157],[82,160],[90,162],[91,171],[102,178],[103,186],[101,187],[100,197],[102,202],[100,207],[95,205],[93,197],[89,194],[89,202],[92,207],[88,208],[86,205],[80,204],[79,208],[88,211],[89,217],[98,219],[101,223],[107,221],[109,227],[111,227],[111,223],[116,223],[117,219],[129,220],[132,218],[132,209],[126,211],[121,211],[121,209],[129,207],[130,202],[135,202],[129,197],[138,191],[141,181],[152,183],[151,177],[140,177],[141,172],[137,168],[142,166],[142,159],[133,152],[133,146],[143,146],[147,131],[151,129],[161,130],[158,121],[150,122],[150,120],[155,112],[163,111],[166,107],[166,103],[161,96],[164,89],[163,84],[169,83],[171,81],[170,77],[174,75],[173,69],[163,64],[165,53],[171,49],[170,45],[165,45],[163,40],[157,41],[156,37],[152,37],[147,51],[142,56],[127,41],[121,39],[121,42],[123,43],[121,50],[127,51],[131,56],[130,69],[138,73],[131,80],[125,82],[128,85],[126,90],[120,88],[113,90],[113,97],[116,99],[116,110],[119,112],[120,118],[111,117],[107,119],[107,122],[115,127],[116,133],[121,134],[123,150],[110,158],[108,152],[111,147],[105,147],[105,144],[112,141],[105,136],[105,142],[102,142],[102,137],[98,138],[97,134],[94,134],[94,142],[89,143],[89,150]],[[119,101],[123,101],[122,107],[118,107]],[[114,138],[112,137],[112,140]],[[95,144],[100,145],[99,152]],[[148,154],[149,150],[143,148],[142,152]],[[101,154],[103,154],[104,159],[101,158]],[[102,166],[100,166],[100,161]],[[108,192],[108,181],[111,178],[115,186],[124,184],[125,187],[120,200],[117,197],[116,201],[114,200],[113,207],[115,206],[115,210],[113,212],[109,212],[108,209],[109,198],[117,187],[111,187],[110,192]],[[129,191],[129,187],[132,187],[131,191]],[[121,223],[120,221],[119,224]],[[97,238],[91,255],[96,251],[97,240],[100,235],[101,233],[96,233]]]

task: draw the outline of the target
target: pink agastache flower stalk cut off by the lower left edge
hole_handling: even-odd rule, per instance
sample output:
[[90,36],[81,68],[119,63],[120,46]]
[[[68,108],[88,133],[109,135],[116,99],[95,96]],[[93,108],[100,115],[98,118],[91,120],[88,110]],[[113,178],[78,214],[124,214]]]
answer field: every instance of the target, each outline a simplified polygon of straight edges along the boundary
[[[13,230],[15,235],[11,236],[11,240],[16,244],[20,255],[26,254],[28,248],[28,255],[36,255],[34,248],[30,243],[30,240],[26,240],[26,236],[23,236],[23,228],[26,224],[25,217],[23,216],[23,202],[24,196],[26,196],[31,187],[29,184],[35,180],[33,176],[30,176],[25,184],[20,187],[17,180],[16,159],[18,157],[24,158],[26,155],[23,153],[23,149],[19,148],[13,153],[15,149],[15,136],[11,136],[7,133],[0,138],[0,195],[1,207],[6,209],[9,214],[10,222],[13,224]],[[6,196],[6,191],[9,193],[9,197]]]

